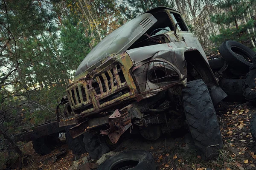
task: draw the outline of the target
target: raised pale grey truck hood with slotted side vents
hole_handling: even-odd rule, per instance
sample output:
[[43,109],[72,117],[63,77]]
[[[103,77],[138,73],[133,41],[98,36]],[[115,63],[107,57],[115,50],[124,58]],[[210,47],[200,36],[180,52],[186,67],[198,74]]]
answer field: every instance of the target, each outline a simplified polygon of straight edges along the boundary
[[152,14],[145,13],[116,29],[99,42],[83,59],[76,70],[75,76],[83,73],[109,54],[124,52],[156,22],[157,20]]

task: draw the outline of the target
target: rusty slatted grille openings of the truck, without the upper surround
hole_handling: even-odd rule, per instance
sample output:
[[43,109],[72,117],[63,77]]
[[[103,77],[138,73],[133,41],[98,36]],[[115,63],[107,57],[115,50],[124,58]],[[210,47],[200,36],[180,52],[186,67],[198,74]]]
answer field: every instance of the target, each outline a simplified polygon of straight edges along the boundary
[[66,91],[71,108],[76,114],[99,111],[134,94],[126,82],[124,68],[119,64],[105,69],[91,79],[77,80]]

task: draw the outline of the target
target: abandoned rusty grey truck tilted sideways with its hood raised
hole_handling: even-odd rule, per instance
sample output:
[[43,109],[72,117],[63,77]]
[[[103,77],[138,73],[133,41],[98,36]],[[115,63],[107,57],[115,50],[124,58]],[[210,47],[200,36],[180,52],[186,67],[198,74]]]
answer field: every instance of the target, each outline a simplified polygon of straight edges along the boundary
[[70,125],[70,148],[85,148],[92,159],[136,129],[156,140],[188,125],[205,159],[223,147],[214,105],[227,94],[198,39],[171,8],[151,9],[105,37],[81,62],[66,92],[59,126]]

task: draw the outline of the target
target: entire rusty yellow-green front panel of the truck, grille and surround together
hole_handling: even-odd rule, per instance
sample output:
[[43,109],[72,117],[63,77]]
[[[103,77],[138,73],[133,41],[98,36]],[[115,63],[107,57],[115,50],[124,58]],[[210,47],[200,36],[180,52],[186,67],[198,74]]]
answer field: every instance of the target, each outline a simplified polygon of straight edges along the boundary
[[[133,62],[127,53],[112,56],[90,74],[82,77],[66,89],[75,117],[99,113],[110,105],[136,97],[136,85],[130,70]],[[84,87],[87,100],[82,99]],[[78,92],[76,92],[78,88]],[[115,96],[115,97],[113,97]],[[92,106],[87,108],[87,106]]]

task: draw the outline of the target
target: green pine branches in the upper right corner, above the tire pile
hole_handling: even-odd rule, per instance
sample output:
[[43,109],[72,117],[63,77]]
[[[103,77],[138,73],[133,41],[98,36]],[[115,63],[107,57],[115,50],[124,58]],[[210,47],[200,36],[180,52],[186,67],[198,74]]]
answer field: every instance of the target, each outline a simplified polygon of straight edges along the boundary
[[255,3],[255,0],[247,1],[247,3],[241,3],[240,0],[221,1],[218,3],[217,7],[223,12],[211,16],[211,22],[219,25],[219,34],[210,35],[210,40],[216,45],[213,48],[214,51],[226,40],[251,43],[249,40],[250,38],[254,38],[254,34],[248,34],[247,29],[253,28],[255,20],[247,20],[246,18],[247,23],[243,21],[247,16],[248,5],[252,5],[253,3]]

